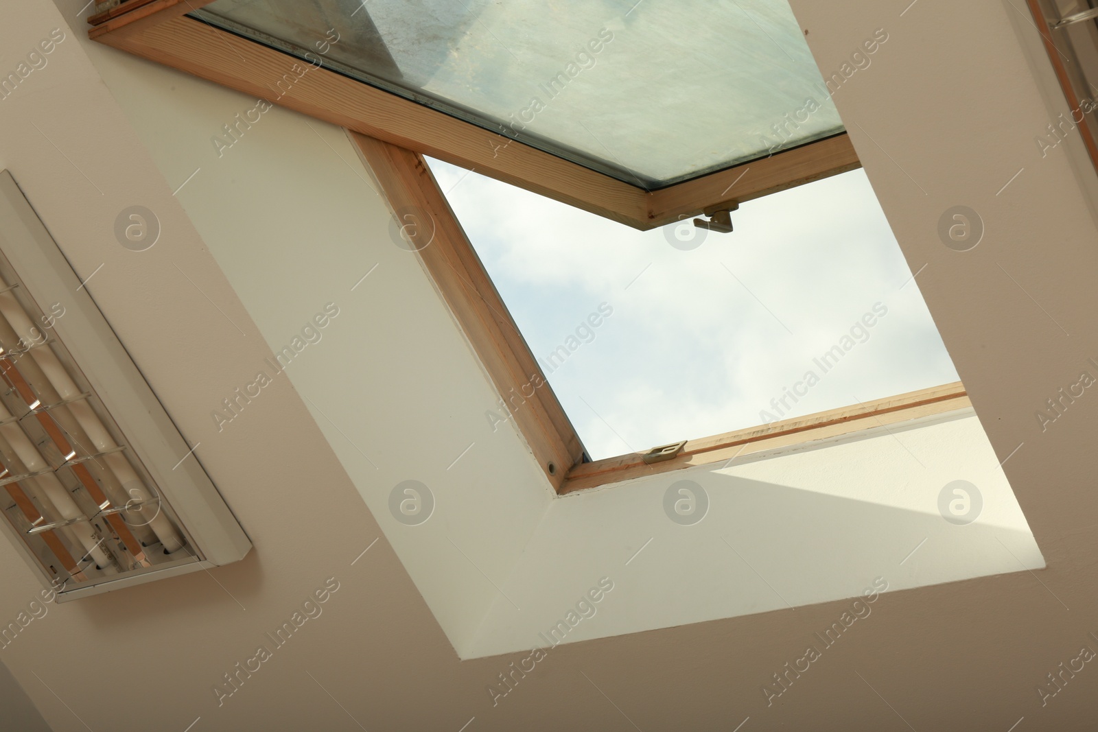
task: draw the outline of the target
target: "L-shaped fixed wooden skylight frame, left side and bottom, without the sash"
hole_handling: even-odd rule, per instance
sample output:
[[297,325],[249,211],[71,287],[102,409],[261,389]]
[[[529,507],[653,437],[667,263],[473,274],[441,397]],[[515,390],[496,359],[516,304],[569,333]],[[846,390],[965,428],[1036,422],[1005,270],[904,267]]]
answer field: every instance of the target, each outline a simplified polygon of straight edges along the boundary
[[508,401],[509,417],[514,418],[542,472],[560,495],[685,468],[729,462],[737,457],[867,429],[887,429],[889,425],[972,406],[964,386],[954,382],[687,440],[673,458],[661,462],[646,463],[639,452],[583,462],[583,446],[575,428],[423,156],[351,131],[348,135],[396,219],[414,227],[411,239],[419,261],[496,390]]

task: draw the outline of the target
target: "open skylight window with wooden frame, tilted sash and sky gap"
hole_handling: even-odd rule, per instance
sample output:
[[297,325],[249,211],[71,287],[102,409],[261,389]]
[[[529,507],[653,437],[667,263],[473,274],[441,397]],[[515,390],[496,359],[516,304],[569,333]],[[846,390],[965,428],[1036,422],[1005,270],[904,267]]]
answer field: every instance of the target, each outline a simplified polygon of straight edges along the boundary
[[[860,167],[830,99],[847,71],[824,79],[786,0],[458,4],[213,0],[89,22],[347,129],[498,390],[493,430],[512,423],[559,493],[965,406],[864,177],[820,182]],[[475,171],[447,193],[506,190],[482,174],[526,193],[493,200],[486,234],[455,198],[474,249],[424,156]],[[512,248],[493,251],[504,223]],[[523,257],[553,284],[497,261]]]

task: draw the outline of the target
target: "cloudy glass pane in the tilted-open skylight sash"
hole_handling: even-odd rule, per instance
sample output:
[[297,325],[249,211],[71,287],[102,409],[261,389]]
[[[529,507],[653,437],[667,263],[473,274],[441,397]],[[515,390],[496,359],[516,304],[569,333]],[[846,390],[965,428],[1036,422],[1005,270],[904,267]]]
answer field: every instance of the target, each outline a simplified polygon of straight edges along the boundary
[[323,47],[328,68],[642,188],[843,129],[786,0],[217,0],[194,15],[301,57]]

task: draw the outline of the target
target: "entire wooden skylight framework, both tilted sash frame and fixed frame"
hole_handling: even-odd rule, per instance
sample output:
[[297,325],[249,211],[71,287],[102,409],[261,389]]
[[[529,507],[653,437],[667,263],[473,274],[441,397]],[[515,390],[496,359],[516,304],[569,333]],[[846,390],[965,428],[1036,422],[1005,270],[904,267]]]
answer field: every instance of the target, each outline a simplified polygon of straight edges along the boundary
[[[89,19],[92,38],[216,83],[264,97],[293,60],[281,52],[186,18],[213,0],[125,0]],[[304,79],[305,77],[302,77]],[[425,155],[645,230],[860,167],[845,134],[647,191],[329,71],[312,69],[277,103],[343,126],[397,221],[425,233],[416,256],[507,404],[558,494],[739,455],[826,440],[971,407],[960,382],[686,441],[671,459],[641,453],[586,461],[546,381]]]

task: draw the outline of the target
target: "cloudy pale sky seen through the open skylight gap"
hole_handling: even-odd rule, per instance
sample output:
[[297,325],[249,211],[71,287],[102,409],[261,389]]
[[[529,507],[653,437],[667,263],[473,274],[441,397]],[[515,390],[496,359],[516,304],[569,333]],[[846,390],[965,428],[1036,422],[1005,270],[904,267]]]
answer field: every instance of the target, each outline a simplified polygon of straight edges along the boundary
[[957,380],[862,170],[702,234],[429,164],[593,460]]

